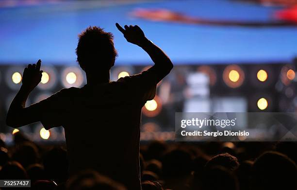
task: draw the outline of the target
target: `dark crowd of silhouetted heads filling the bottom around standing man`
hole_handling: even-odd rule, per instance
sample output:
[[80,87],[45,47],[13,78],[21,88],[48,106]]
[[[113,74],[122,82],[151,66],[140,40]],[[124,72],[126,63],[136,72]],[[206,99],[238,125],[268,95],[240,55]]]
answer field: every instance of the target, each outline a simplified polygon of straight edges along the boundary
[[[30,179],[35,190],[127,190],[91,169],[69,177],[63,147],[20,133],[14,145],[0,140],[0,179]],[[296,152],[296,142],[142,142],[142,189],[297,190]]]

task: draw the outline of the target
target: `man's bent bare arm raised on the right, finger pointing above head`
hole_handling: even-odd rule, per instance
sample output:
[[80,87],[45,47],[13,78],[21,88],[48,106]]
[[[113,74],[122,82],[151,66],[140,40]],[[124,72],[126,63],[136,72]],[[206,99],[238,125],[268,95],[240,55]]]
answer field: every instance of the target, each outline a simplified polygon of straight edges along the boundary
[[137,25],[125,25],[125,29],[122,28],[118,23],[115,25],[117,29],[123,33],[128,42],[141,47],[148,53],[152,61],[155,63],[154,66],[149,68],[149,71],[155,72],[156,84],[161,81],[173,68],[173,64],[165,52],[148,40],[143,31]]

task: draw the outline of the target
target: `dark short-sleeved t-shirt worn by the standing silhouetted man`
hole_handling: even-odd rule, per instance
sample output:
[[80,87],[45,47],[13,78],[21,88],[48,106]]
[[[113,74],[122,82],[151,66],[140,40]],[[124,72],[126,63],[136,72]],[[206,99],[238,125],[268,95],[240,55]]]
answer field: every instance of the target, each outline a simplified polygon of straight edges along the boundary
[[31,106],[42,112],[45,129],[63,126],[69,174],[95,169],[140,190],[141,108],[156,93],[153,72],[117,81],[62,89]]

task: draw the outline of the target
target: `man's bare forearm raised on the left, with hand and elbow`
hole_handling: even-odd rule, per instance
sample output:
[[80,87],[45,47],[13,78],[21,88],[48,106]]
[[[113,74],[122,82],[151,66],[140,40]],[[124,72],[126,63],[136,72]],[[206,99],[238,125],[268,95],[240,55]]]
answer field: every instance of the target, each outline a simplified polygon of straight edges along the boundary
[[43,71],[40,70],[40,65],[41,60],[39,59],[36,65],[29,64],[28,67],[24,69],[22,86],[10,104],[7,113],[6,124],[8,126],[16,128],[39,121],[41,113],[35,110],[34,107],[25,108],[25,104],[31,91],[41,81]]

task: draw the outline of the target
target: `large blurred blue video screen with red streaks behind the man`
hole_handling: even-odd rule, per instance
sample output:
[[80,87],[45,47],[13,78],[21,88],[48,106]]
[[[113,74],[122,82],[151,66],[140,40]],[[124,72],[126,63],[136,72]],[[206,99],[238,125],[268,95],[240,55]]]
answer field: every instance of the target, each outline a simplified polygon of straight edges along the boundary
[[147,65],[115,22],[139,25],[176,65],[290,62],[297,8],[247,0],[2,1],[0,64],[77,65],[77,35],[90,25],[115,36],[117,65]]

